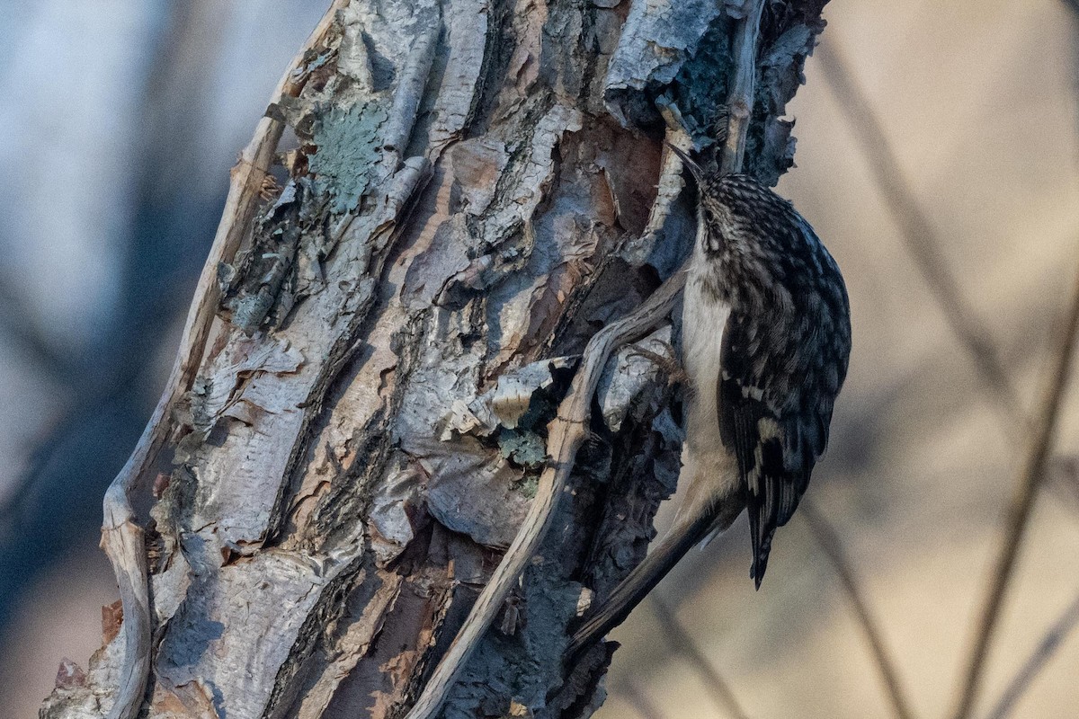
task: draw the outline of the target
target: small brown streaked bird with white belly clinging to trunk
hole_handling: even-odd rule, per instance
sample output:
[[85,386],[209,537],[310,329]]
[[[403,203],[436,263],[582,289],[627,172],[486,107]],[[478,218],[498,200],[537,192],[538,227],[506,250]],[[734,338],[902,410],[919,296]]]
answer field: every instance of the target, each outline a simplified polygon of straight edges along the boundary
[[660,542],[585,616],[566,655],[619,624],[696,544],[749,515],[755,587],[776,529],[828,446],[847,375],[850,305],[838,264],[794,206],[745,174],[706,170],[685,265],[682,365],[685,498]]

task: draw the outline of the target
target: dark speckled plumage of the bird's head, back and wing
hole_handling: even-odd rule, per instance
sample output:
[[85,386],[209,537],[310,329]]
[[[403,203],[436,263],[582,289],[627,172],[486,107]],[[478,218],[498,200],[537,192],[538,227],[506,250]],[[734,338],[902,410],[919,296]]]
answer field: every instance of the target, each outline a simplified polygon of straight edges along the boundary
[[[737,459],[760,586],[773,535],[828,445],[847,374],[850,309],[838,265],[791,203],[745,175],[698,182],[700,301],[729,308],[716,421]],[[710,330],[683,327],[694,331]]]

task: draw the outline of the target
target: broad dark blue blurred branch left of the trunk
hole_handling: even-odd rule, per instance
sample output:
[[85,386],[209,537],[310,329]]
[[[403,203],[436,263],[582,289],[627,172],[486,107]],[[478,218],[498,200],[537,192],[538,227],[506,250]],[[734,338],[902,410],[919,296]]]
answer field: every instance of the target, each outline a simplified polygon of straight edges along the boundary
[[[205,64],[217,54],[215,3],[158,2],[135,129],[131,215],[115,252],[111,312],[63,369],[71,388],[64,418],[35,451],[4,512],[0,536],[0,633],[39,571],[73,547],[96,543],[100,498],[152,407],[155,354],[183,308],[213,234],[213,184],[179,192],[204,176],[191,152],[202,130]],[[59,370],[59,368],[57,368]]]

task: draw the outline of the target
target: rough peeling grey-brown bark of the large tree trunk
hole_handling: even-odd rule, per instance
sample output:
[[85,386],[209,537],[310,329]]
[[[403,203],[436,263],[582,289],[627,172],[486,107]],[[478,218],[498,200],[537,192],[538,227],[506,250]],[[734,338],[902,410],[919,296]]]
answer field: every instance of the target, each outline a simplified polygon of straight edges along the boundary
[[[766,3],[747,171],[769,184],[825,1]],[[140,716],[404,714],[520,526],[575,356],[686,253],[659,140],[714,144],[739,4],[338,0],[268,111],[296,138],[279,189],[216,246],[216,316],[135,462]],[[643,557],[680,453],[657,368],[627,348],[607,373],[572,498],[447,717],[602,701],[613,649],[571,674],[566,626]],[[43,717],[112,705],[111,628]]]

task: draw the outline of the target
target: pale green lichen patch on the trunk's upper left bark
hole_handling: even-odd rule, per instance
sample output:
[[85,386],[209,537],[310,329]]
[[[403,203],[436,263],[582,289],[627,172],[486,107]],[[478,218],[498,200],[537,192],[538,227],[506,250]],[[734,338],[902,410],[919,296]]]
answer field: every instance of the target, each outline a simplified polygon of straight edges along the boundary
[[315,176],[315,192],[329,198],[330,211],[340,215],[355,209],[378,179],[379,129],[386,116],[385,109],[374,102],[318,111],[312,128],[317,150],[308,157],[308,166]]

